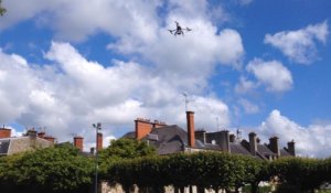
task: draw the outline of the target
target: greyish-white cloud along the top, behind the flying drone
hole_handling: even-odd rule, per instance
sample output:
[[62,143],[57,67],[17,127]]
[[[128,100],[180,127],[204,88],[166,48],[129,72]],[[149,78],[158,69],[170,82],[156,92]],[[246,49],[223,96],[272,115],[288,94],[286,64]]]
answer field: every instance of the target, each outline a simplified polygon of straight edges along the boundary
[[[0,22],[0,29],[33,18],[41,28],[54,30],[55,40],[79,42],[104,32],[116,40],[109,43],[108,49],[122,54],[141,54],[161,66],[162,71],[168,68],[171,72],[180,69],[181,73],[191,73],[188,72],[191,69],[196,73],[204,69],[202,74],[205,76],[217,63],[238,67],[244,54],[237,31],[220,31],[212,24],[210,6],[205,0],[169,1],[162,18],[158,10],[166,2],[159,0],[50,0],[47,3],[32,0],[24,6],[17,6],[21,3],[11,0],[4,4],[9,14],[1,18],[3,22]],[[226,18],[226,14],[220,17]],[[221,18],[218,20],[222,21]],[[168,32],[174,26],[174,21],[193,31],[185,39],[175,39]]]

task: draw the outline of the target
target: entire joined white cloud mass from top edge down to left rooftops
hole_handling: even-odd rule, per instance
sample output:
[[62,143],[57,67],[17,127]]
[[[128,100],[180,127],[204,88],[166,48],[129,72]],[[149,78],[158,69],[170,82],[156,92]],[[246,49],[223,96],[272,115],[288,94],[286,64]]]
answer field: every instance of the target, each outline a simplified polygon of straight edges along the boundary
[[[111,52],[138,55],[139,61],[151,65],[114,60],[111,66],[105,67],[82,56],[70,43],[58,42],[53,42],[44,55],[51,65],[32,67],[22,56],[1,52],[0,57],[8,58],[0,64],[3,68],[0,74],[8,75],[0,77],[6,83],[0,86],[0,95],[4,96],[0,104],[8,109],[6,115],[0,114],[1,121],[46,126],[60,139],[78,132],[87,136],[88,143],[94,141],[90,124],[95,121],[113,126],[105,130],[105,136],[132,129],[137,117],[184,126],[181,93],[185,92],[195,98],[192,108],[199,127],[213,129],[211,111],[226,127],[229,122],[226,104],[204,96],[204,92],[216,65],[241,66],[245,52],[241,34],[233,29],[217,29],[210,21],[205,0],[169,1],[160,13],[163,3],[160,0],[6,1],[8,13],[0,18],[0,30],[32,19],[39,28],[53,30],[56,41],[82,42],[103,32],[115,40],[108,45]],[[223,13],[218,21],[227,20],[222,19],[227,17]],[[193,31],[175,37],[168,31],[174,26],[173,21]],[[14,98],[18,99],[11,100]]]

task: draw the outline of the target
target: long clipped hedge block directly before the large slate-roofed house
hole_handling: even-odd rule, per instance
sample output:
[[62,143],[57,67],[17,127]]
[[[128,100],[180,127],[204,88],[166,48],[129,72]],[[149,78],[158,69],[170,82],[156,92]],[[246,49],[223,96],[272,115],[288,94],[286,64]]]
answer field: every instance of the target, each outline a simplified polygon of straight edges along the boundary
[[252,181],[253,176],[247,174],[252,169],[245,164],[249,159],[254,162],[253,158],[220,152],[147,157],[114,164],[108,170],[108,176],[111,176],[108,180],[124,186],[137,184],[160,189],[172,184],[179,189],[196,185],[228,190]]

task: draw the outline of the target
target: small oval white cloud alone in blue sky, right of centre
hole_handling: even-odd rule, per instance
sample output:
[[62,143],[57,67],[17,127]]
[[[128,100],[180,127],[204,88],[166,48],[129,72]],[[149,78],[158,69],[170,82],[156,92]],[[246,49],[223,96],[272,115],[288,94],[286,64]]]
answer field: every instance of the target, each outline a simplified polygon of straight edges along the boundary
[[254,74],[268,92],[281,93],[292,87],[293,81],[290,71],[278,61],[255,58],[248,63],[246,69]]

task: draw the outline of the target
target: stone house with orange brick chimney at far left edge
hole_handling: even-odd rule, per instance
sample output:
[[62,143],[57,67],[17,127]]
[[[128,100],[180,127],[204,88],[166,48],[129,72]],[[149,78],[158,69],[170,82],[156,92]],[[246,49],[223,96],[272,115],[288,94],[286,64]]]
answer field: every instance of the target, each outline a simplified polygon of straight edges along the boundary
[[54,146],[55,138],[45,136],[45,132],[28,130],[22,137],[11,137],[11,129],[0,128],[0,156],[10,156],[19,152],[47,148]]

